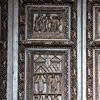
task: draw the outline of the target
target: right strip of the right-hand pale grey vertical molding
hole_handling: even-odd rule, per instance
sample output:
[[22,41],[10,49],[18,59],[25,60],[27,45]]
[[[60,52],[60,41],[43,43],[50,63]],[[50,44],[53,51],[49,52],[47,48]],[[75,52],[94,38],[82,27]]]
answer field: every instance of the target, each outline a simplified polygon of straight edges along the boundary
[[87,17],[87,0],[83,0],[83,25],[82,25],[82,100],[86,100],[86,17]]

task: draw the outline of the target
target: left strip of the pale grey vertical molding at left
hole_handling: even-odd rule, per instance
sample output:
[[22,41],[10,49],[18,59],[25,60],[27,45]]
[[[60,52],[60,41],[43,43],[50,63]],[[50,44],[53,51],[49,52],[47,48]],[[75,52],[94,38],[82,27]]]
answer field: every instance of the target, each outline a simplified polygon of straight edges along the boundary
[[13,2],[8,0],[7,100],[13,100]]

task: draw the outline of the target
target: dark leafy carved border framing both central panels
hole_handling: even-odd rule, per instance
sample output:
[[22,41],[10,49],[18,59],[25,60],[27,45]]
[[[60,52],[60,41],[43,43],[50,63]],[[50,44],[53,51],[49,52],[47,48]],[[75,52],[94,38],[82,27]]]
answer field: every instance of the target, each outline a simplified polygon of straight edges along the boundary
[[[65,3],[66,2],[66,3]],[[69,1],[62,3],[53,3],[55,6],[68,5]],[[29,3],[36,5],[36,3]],[[27,3],[28,4],[28,3]],[[52,3],[38,3],[39,5],[48,5],[51,6]],[[51,48],[55,49],[61,48],[70,48],[71,49],[71,94],[70,99],[77,100],[77,1],[74,0],[71,2],[71,40],[74,42],[74,45],[70,45],[70,42],[63,41],[38,41],[38,42],[26,42],[25,41],[25,6],[19,3],[19,69],[18,69],[18,100],[24,100],[25,97],[25,48]],[[25,41],[25,42],[24,42]],[[24,44],[23,44],[24,43]]]

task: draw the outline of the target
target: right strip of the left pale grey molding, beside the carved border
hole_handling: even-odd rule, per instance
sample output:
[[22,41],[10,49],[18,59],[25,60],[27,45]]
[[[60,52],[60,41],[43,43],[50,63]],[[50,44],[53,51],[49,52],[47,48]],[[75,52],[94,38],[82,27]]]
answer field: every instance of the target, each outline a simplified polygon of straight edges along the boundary
[[13,19],[13,100],[17,100],[18,95],[18,0],[14,1]]

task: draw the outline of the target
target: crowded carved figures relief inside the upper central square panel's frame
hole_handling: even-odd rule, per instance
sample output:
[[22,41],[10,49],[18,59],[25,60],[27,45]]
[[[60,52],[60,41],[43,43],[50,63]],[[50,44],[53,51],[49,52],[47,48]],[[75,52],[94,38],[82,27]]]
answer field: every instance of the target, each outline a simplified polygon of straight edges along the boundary
[[33,30],[35,32],[62,32],[62,16],[38,14],[34,16]]

